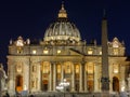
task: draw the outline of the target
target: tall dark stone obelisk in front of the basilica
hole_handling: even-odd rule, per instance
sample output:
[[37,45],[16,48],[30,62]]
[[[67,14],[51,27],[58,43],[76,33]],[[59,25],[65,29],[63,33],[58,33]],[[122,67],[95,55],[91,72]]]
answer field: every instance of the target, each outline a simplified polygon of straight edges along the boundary
[[[104,11],[102,19],[102,92],[109,92],[109,73],[108,73],[108,46],[107,46],[107,19]],[[104,96],[107,97],[107,96]]]

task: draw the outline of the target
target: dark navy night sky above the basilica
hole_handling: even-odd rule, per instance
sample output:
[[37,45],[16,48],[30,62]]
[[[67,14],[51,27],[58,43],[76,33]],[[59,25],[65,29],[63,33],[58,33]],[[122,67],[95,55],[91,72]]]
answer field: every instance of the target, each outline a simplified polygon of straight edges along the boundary
[[[0,1],[0,63],[6,64],[10,39],[43,39],[49,25],[56,19],[62,0]],[[117,37],[125,41],[130,55],[129,0],[64,0],[68,18],[76,24],[82,40],[101,43],[103,9],[108,19],[108,40]]]

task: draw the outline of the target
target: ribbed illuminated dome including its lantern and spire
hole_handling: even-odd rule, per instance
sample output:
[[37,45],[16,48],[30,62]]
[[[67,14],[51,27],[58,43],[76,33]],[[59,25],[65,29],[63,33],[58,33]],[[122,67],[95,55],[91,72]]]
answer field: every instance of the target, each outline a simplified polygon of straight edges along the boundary
[[64,4],[62,4],[62,9],[58,12],[57,19],[54,23],[51,23],[44,33],[44,41],[49,42],[61,40],[72,40],[76,42],[79,42],[81,40],[78,28],[67,18],[67,13],[64,9]]

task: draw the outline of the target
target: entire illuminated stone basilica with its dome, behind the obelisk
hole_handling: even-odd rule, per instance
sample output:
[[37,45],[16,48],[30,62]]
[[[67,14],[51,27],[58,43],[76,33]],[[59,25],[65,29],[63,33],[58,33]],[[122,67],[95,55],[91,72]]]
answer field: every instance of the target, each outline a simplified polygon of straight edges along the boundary
[[[107,30],[103,26],[102,29]],[[129,63],[125,43],[114,38],[107,41],[107,50],[109,92],[127,89]],[[23,37],[11,40],[6,57],[10,94],[56,92],[64,79],[69,83],[68,92],[102,92],[102,45],[82,41],[64,4],[42,41]]]

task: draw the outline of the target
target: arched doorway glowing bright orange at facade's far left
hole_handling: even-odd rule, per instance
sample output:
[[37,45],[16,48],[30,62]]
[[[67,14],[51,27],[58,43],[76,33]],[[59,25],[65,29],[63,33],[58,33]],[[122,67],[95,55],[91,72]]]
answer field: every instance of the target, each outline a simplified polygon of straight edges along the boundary
[[21,91],[23,91],[23,77],[22,75],[17,75],[16,77],[16,92],[21,92]]

